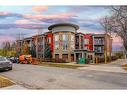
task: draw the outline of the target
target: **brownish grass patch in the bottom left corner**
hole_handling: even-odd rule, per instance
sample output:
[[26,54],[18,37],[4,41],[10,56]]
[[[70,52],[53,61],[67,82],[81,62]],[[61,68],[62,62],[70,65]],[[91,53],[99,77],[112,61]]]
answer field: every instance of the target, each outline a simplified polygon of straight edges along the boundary
[[11,85],[14,85],[14,83],[11,80],[9,80],[3,76],[0,76],[0,88],[8,87]]

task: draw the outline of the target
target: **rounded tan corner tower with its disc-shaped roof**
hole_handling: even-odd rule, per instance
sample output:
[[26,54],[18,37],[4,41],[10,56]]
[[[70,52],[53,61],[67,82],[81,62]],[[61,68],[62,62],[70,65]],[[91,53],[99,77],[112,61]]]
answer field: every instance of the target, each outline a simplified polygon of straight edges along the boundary
[[74,24],[54,24],[48,28],[53,33],[53,58],[74,61],[75,33],[78,26]]

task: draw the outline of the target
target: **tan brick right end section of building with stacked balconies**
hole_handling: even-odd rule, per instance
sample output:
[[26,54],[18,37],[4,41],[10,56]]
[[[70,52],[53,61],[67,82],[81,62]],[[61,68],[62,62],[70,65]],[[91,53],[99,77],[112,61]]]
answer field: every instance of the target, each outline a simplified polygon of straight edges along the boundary
[[94,34],[94,51],[95,56],[103,57],[111,56],[112,38],[108,34]]

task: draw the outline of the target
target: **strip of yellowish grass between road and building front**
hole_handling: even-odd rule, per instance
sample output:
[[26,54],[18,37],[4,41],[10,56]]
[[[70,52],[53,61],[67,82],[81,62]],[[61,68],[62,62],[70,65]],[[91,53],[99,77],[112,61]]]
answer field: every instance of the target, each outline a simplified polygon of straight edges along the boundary
[[77,69],[79,67],[85,67],[85,66],[68,65],[67,63],[48,63],[48,62],[42,62],[38,65],[47,66],[47,67],[70,68],[70,69]]

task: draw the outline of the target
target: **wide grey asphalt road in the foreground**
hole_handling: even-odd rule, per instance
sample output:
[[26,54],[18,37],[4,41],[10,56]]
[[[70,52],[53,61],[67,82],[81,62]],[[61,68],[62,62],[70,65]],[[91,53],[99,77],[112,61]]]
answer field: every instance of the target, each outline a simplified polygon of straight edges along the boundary
[[1,72],[28,89],[127,89],[127,74],[14,64]]

